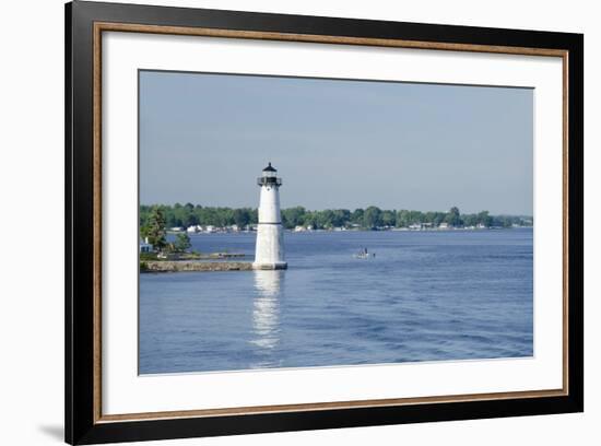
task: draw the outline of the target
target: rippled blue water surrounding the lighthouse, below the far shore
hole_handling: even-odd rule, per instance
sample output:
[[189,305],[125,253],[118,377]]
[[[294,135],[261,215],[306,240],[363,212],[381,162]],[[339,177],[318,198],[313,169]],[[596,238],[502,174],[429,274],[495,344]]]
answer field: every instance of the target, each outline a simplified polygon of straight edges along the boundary
[[[255,234],[195,235],[249,255]],[[360,247],[374,259],[355,259]],[[532,356],[532,231],[285,234],[285,271],[140,275],[140,373]]]

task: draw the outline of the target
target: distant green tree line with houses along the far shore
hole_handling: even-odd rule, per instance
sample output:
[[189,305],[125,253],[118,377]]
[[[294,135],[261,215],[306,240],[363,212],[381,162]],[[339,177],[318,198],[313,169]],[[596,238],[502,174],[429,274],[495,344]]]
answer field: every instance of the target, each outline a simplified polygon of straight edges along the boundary
[[[148,228],[156,225],[156,219],[151,214],[158,212],[164,227],[188,227],[193,225],[212,225],[217,227],[237,225],[243,228],[257,224],[258,211],[252,208],[217,208],[202,207],[192,203],[174,206],[140,206],[140,227]],[[296,226],[311,227],[316,230],[329,230],[333,227],[358,227],[363,230],[376,230],[381,227],[409,227],[414,224],[427,224],[434,227],[440,223],[449,226],[463,227],[483,225],[485,227],[510,227],[515,224],[531,226],[532,218],[521,215],[491,215],[488,211],[471,214],[462,214],[457,207],[447,212],[422,212],[410,210],[382,210],[375,206],[366,209],[327,209],[310,211],[303,207],[283,209],[282,223],[286,228]],[[144,231],[142,231],[144,232]]]

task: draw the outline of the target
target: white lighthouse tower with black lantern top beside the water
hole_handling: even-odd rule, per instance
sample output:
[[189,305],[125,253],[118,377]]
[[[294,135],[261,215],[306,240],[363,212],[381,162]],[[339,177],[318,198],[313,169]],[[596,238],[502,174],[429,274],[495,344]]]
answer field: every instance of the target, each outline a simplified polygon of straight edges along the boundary
[[259,201],[259,225],[257,228],[257,247],[252,268],[261,270],[286,269],[284,260],[284,232],[280,215],[280,186],[271,163],[263,168],[263,174],[257,179],[261,187]]

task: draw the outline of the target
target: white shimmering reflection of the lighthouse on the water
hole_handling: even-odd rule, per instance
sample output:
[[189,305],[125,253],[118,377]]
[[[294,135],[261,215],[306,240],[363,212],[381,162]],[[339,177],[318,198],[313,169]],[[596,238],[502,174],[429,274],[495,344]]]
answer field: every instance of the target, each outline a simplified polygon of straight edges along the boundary
[[250,343],[269,353],[280,342],[280,297],[284,271],[256,270],[254,273],[256,295]]

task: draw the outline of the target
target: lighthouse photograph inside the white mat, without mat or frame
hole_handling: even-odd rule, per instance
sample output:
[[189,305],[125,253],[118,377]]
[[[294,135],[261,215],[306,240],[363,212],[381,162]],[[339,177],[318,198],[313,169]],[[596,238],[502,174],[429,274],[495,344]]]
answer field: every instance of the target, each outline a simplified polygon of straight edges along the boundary
[[534,89],[140,69],[138,92],[140,375],[535,355]]

